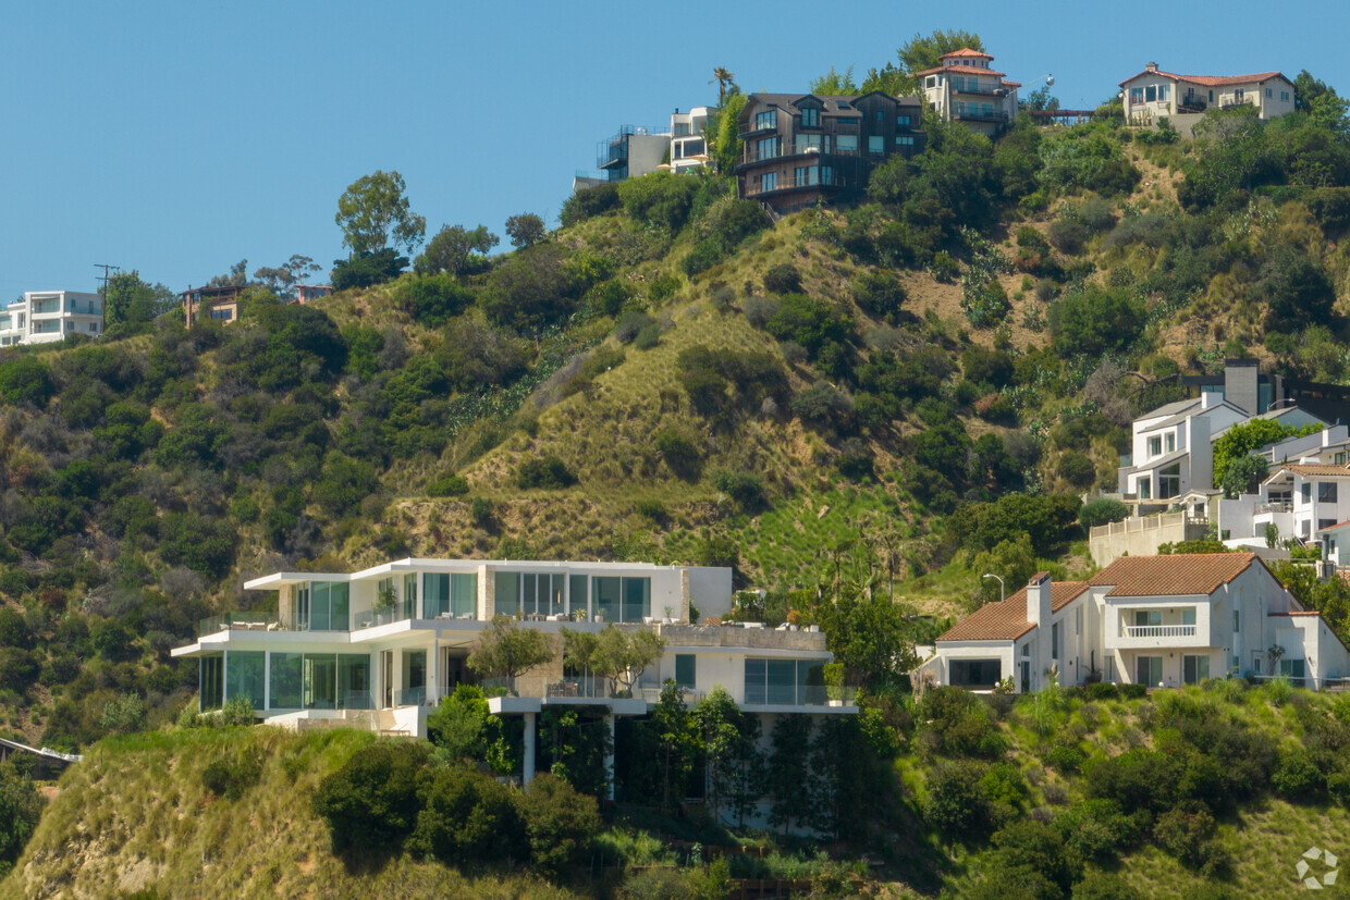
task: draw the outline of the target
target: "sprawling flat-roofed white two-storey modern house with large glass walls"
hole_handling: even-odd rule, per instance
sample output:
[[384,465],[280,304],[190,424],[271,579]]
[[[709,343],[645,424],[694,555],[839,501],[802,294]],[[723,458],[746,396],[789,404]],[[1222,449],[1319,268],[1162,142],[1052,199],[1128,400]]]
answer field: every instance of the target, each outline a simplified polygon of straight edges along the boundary
[[[533,775],[533,725],[545,708],[585,707],[603,716],[645,715],[674,679],[691,698],[722,685],[742,711],[857,712],[842,688],[826,688],[833,660],[819,630],[698,625],[733,606],[726,568],[648,563],[540,563],[405,559],[354,573],[275,572],[244,584],[277,594],[277,613],[234,613],[201,623],[173,650],[200,664],[200,707],[247,698],[274,725],[350,725],[427,735],[427,714],[459,684],[481,684],[468,653],[494,615],[549,637],[555,658],[489,690],[497,715],[525,719],[525,779]],[[562,629],[649,629],[664,641],[636,675],[632,696],[564,667]],[[495,683],[485,688],[502,688]]]

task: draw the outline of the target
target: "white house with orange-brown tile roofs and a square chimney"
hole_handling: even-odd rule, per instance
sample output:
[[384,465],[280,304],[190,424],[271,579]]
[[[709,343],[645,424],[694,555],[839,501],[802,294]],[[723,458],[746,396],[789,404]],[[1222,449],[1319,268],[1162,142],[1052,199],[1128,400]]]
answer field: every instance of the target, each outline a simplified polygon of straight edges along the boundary
[[1126,556],[1089,582],[1041,572],[937,638],[923,663],[940,684],[988,691],[1003,679],[1179,687],[1285,675],[1322,687],[1350,677],[1350,650],[1256,553]]

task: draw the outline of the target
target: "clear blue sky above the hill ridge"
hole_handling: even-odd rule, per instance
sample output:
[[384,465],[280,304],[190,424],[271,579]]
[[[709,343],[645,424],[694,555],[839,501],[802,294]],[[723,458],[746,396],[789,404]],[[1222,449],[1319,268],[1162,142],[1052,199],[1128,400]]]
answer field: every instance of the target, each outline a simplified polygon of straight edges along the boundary
[[[1296,11],[1296,12],[1295,12]],[[1315,23],[1315,24],[1314,24]],[[0,300],[93,290],[94,263],[182,290],[247,258],[343,254],[338,197],[398,170],[428,236],[537,212],[595,143],[745,90],[806,90],[977,31],[1018,81],[1095,105],[1156,59],[1300,69],[1350,92],[1342,1],[193,3],[0,0]]]

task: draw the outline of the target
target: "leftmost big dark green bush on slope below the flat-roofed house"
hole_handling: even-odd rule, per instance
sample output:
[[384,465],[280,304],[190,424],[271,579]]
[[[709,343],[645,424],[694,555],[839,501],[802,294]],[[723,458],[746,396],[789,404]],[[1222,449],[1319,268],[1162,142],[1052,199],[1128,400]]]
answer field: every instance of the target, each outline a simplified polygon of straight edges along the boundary
[[327,776],[313,807],[328,823],[333,850],[397,850],[417,823],[417,773],[425,762],[424,743],[379,741]]

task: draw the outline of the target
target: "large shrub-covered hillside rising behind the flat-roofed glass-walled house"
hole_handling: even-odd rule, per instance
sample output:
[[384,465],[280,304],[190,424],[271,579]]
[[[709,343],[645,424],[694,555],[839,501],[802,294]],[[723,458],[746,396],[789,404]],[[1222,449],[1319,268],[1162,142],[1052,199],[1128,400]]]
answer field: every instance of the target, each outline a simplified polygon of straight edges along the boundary
[[1193,142],[1111,107],[992,143],[930,121],[853,208],[775,223],[729,177],[649,175],[554,232],[518,217],[500,256],[452,227],[306,306],[256,285],[228,327],[7,349],[0,729],[171,718],[194,672],[169,649],[279,568],[734,564],[783,615],[845,580],[946,614],[981,572],[1080,569],[1076,494],[1173,375],[1347,376],[1350,139],[1322,97]]

